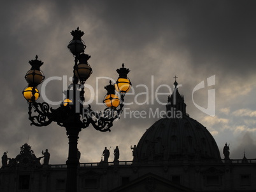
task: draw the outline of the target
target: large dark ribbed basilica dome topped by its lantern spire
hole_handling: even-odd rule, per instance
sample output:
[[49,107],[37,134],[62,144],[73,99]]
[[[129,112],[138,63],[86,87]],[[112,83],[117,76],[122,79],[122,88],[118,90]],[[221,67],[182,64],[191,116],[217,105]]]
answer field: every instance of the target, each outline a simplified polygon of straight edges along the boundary
[[188,116],[184,97],[178,92],[177,85],[175,81],[174,92],[168,97],[166,117],[143,134],[134,160],[140,163],[219,162],[220,151],[215,139],[206,127]]

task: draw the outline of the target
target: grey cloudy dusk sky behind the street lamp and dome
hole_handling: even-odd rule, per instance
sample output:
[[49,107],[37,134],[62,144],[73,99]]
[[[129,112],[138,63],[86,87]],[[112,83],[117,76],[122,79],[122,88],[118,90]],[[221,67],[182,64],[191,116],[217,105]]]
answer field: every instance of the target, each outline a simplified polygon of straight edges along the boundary
[[[27,86],[28,62],[36,55],[44,62],[46,79],[73,76],[74,58],[67,46],[70,32],[79,26],[85,32],[85,53],[91,55],[93,74],[87,84],[94,93],[86,90],[85,99],[94,97],[92,108],[104,109],[98,103],[109,81],[97,78],[117,79],[115,70],[122,63],[131,70],[134,88],[125,97],[127,113],[115,121],[110,133],[93,127],[80,132],[80,162],[100,161],[105,146],[111,146],[110,160],[115,146],[120,148],[120,160],[132,160],[130,146],[160,119],[149,116],[150,110],[165,110],[170,93],[161,85],[173,88],[175,75],[187,113],[208,128],[220,152],[227,142],[231,158],[243,158],[244,151],[247,158],[256,158],[255,6],[255,1],[1,1],[0,154],[8,151],[13,158],[27,142],[36,156],[47,148],[50,163],[66,162],[65,128],[56,123],[30,126],[22,90]],[[208,87],[211,76],[215,85]],[[202,81],[205,88],[193,93]],[[47,99],[62,100],[63,85],[69,83],[50,81]],[[197,107],[208,107],[210,89],[216,93],[215,106],[210,105],[215,107],[213,117]],[[166,95],[156,97],[155,92]],[[136,118],[131,111],[147,115]]]

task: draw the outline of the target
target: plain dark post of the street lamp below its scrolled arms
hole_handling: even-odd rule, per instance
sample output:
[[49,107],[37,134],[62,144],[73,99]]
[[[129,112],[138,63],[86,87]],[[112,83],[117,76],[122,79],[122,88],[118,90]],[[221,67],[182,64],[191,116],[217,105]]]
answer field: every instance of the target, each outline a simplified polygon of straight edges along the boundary
[[77,127],[66,127],[67,135],[69,139],[69,151],[67,164],[67,181],[66,181],[66,192],[76,192],[77,191],[77,144],[78,144],[78,134],[81,128]]

